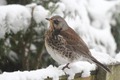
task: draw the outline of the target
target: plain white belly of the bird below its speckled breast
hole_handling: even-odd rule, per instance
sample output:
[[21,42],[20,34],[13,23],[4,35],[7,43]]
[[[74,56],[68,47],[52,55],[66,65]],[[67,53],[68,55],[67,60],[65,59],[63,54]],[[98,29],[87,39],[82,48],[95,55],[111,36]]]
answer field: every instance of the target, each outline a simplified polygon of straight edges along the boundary
[[50,54],[50,56],[58,63],[58,64],[66,64],[66,63],[70,63],[70,61],[68,60],[68,58],[63,57],[60,53],[58,53],[58,51],[53,50],[50,46],[48,46],[45,42],[45,46],[46,49],[48,51],[48,53]]

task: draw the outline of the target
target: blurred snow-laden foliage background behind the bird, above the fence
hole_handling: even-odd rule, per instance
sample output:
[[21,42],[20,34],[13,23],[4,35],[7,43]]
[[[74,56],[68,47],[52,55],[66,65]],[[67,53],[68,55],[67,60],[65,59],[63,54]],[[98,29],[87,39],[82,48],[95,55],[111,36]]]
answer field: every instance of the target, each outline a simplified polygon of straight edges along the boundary
[[90,49],[120,51],[119,0],[0,0],[0,72],[58,64],[44,46],[46,17],[60,15]]

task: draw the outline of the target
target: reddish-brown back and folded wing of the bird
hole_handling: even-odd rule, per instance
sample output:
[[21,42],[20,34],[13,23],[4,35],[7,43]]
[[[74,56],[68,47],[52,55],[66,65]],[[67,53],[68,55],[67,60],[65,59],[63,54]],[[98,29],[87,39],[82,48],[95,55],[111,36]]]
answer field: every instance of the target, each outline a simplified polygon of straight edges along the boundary
[[76,53],[83,55],[91,55],[86,43],[73,29],[68,28],[67,30],[62,31],[60,35],[65,40],[65,47],[68,49],[74,50]]

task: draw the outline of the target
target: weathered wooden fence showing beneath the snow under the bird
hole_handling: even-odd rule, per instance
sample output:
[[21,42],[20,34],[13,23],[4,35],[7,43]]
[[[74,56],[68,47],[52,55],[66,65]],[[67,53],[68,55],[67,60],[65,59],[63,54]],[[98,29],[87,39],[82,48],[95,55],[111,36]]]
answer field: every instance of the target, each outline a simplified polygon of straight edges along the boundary
[[[109,66],[111,73],[104,71],[99,68],[96,71],[91,71],[91,76],[82,78],[82,73],[77,73],[74,80],[120,80],[120,64]],[[52,80],[52,78],[47,78],[45,80]],[[68,80],[68,75],[63,75],[59,77],[59,80]]]

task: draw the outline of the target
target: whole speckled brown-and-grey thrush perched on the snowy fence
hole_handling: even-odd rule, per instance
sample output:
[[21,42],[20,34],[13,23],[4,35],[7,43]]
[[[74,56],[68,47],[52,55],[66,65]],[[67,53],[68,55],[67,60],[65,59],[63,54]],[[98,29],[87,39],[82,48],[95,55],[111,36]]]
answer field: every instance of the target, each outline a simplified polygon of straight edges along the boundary
[[103,68],[106,72],[110,69],[95,59],[83,39],[67,24],[59,15],[46,18],[50,26],[45,33],[45,47],[50,56],[58,64],[66,64],[63,67],[69,68],[68,65],[77,61],[88,61],[95,63]]

